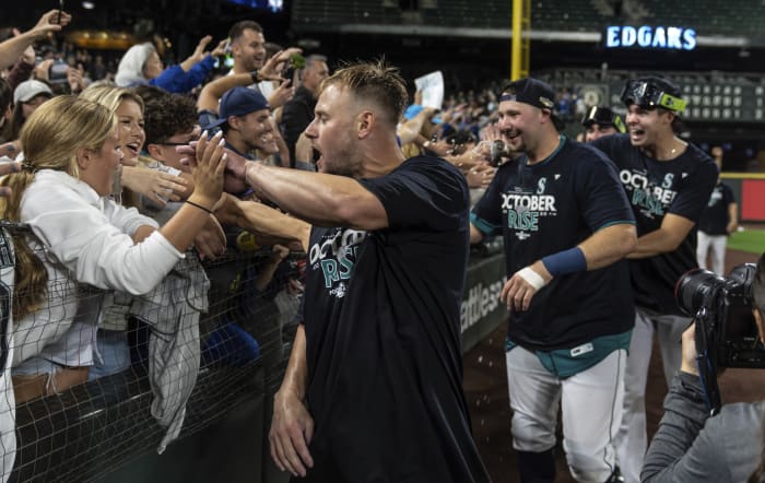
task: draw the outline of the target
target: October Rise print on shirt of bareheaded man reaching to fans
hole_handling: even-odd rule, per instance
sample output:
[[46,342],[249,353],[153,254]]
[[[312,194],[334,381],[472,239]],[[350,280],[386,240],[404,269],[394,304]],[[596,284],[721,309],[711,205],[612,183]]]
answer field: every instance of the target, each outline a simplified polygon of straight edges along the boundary
[[308,251],[311,270],[321,271],[325,288],[331,296],[345,296],[358,247],[366,236],[363,231],[337,228],[311,244]]

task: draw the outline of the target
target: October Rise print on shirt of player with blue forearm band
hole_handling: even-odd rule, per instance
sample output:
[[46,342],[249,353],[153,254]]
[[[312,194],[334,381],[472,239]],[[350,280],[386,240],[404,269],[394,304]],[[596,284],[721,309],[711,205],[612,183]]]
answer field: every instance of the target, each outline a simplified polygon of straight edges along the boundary
[[540,178],[537,187],[515,187],[502,193],[502,212],[507,220],[507,227],[518,239],[527,239],[539,232],[539,222],[544,216],[556,216],[555,197],[544,195],[546,178]]

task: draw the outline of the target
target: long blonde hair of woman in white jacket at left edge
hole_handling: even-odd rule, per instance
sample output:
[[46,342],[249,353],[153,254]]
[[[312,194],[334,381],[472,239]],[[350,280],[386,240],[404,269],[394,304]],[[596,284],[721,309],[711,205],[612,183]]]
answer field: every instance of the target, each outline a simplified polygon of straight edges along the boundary
[[[11,196],[0,198],[0,216],[21,222],[21,200],[37,170],[54,169],[79,178],[78,150],[101,150],[116,129],[114,113],[91,101],[63,95],[39,106],[21,131],[24,168],[0,179],[0,186],[12,189]],[[35,311],[46,299],[48,276],[25,235],[14,234],[13,243],[16,255],[13,315],[21,318]]]

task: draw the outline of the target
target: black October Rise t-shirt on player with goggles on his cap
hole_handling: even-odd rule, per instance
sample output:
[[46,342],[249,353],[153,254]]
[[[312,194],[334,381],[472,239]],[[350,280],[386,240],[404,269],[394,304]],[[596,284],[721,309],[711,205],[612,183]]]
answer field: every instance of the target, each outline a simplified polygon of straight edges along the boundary
[[[592,145],[603,151],[619,169],[637,221],[637,236],[661,227],[667,213],[698,221],[717,181],[717,166],[693,144],[672,161],[656,161],[629,142],[628,134],[612,134]],[[681,315],[674,285],[696,263],[696,231],[691,229],[676,250],[631,260],[635,304],[661,314]]]

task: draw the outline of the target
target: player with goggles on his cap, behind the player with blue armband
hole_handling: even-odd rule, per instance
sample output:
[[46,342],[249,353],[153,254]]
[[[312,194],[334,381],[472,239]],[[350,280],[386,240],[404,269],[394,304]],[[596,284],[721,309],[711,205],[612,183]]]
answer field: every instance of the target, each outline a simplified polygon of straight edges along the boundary
[[625,374],[624,415],[616,439],[619,464],[628,483],[639,482],[647,447],[645,390],[654,332],[668,385],[680,368],[681,315],[674,285],[696,264],[694,225],[709,200],[717,169],[709,156],[674,134],[685,108],[680,89],[661,78],[631,80],[622,93],[626,134],[598,139],[619,169],[637,221],[637,250],[629,255],[635,330]]

